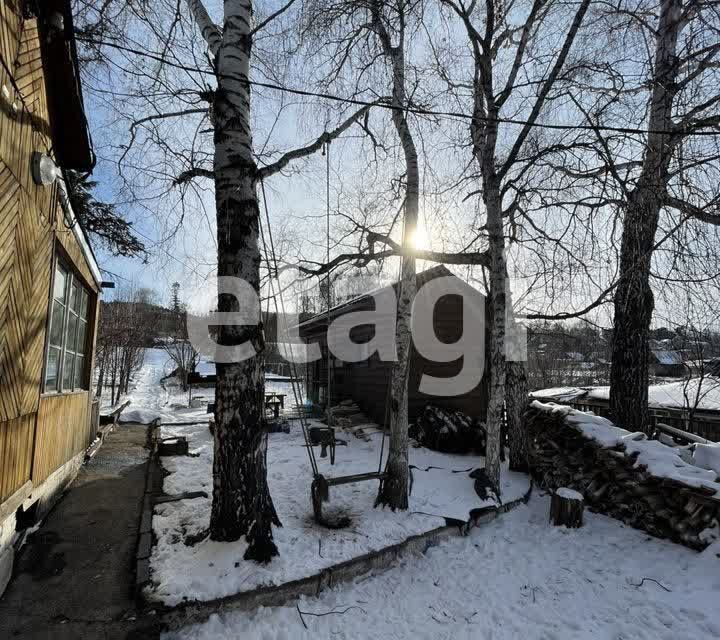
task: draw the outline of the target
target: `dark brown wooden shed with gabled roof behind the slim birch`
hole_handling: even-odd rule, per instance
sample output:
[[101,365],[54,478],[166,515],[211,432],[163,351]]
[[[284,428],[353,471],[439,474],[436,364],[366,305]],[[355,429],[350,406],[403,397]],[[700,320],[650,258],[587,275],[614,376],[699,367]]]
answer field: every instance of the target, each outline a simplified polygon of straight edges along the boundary
[[[446,276],[456,281],[455,284],[463,291],[463,297],[457,294],[442,296],[435,306],[433,327],[438,339],[446,343],[453,343],[463,333],[463,304],[470,305],[469,312],[473,322],[479,323],[482,327],[486,326],[485,297],[444,266],[437,266],[417,274],[417,287],[420,289],[424,284]],[[397,283],[390,286],[397,291]],[[306,343],[317,343],[322,354],[319,360],[306,365],[308,400],[322,407],[327,405],[329,378],[331,406],[343,400],[352,399],[372,420],[378,424],[386,424],[392,362],[380,360],[377,352],[362,362],[343,362],[335,358],[332,353],[328,359],[328,323],[346,313],[373,310],[374,305],[372,293],[359,296],[334,307],[329,312],[319,313],[300,323],[299,333]],[[383,321],[387,323],[385,329],[389,329],[394,335],[394,317],[381,319],[378,324],[382,324]],[[374,331],[375,329],[371,325],[361,325],[350,332],[350,338],[353,342],[364,343],[372,339]],[[487,350],[485,351],[487,357]],[[408,411],[411,422],[428,404],[460,410],[474,418],[485,419],[488,397],[486,376],[472,390],[460,395],[435,396],[427,395],[419,390],[423,374],[438,378],[452,377],[459,373],[462,364],[462,359],[451,362],[429,360],[421,355],[413,344],[408,380]]]

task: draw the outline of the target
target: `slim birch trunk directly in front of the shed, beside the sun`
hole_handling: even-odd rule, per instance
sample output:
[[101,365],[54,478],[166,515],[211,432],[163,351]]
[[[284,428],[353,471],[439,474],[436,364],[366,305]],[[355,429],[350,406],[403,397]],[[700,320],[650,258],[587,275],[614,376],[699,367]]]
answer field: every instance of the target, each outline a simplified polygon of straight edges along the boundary
[[[405,33],[404,14],[401,12],[399,43],[392,45],[381,15],[380,3],[373,4],[373,27],[382,44],[385,57],[392,68],[393,89],[392,120],[405,156],[405,216],[403,225],[403,246],[412,247],[417,230],[420,171],[417,149],[404,109],[407,107],[405,90]],[[385,478],[380,483],[376,505],[395,509],[408,508],[410,468],[408,461],[408,378],[412,359],[411,314],[417,282],[415,279],[415,257],[403,256],[402,275],[398,284],[397,324],[395,342],[398,359],[393,363],[390,377],[390,446],[385,465]]]

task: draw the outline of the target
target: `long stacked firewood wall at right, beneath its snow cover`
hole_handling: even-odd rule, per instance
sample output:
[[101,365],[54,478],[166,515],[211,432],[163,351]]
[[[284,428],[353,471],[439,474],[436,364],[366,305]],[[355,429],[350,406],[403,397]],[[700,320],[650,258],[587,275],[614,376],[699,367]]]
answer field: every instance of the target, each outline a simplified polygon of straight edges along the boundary
[[531,404],[525,421],[532,473],[542,487],[571,487],[591,511],[694,549],[718,537],[720,496],[713,489],[651,475],[624,444],[603,446],[547,405]]

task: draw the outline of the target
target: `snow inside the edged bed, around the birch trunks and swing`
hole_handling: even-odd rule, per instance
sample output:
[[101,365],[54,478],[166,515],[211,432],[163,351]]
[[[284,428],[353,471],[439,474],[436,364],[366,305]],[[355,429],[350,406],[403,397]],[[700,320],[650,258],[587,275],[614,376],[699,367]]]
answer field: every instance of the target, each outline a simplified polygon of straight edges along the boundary
[[[162,437],[186,436],[191,456],[162,458],[169,472],[164,480],[167,494],[205,491],[212,494],[213,439],[208,430],[209,416],[204,408],[187,407],[187,394],[167,381],[163,355],[148,350],[145,364],[129,396],[131,412],[145,417],[159,417],[164,425]],[[290,384],[268,380],[268,389],[291,394]],[[206,390],[203,390],[205,392]],[[210,390],[212,392],[212,390]],[[291,404],[292,396],[289,395]],[[287,407],[287,405],[286,405]],[[171,424],[197,421],[192,425]],[[329,457],[319,458],[326,477],[375,471],[378,468],[382,436],[375,433],[364,441],[338,432],[347,441],[337,447],[334,467]],[[469,473],[484,466],[484,459],[474,455],[450,455],[427,449],[410,451],[414,465],[410,509],[393,513],[373,508],[377,495],[376,481],[333,487],[326,509],[341,509],[352,519],[347,529],[329,530],[312,518],[310,483],[312,474],[299,424],[293,422],[291,433],[269,435],[268,483],[280,520],[274,530],[280,557],[269,565],[245,562],[246,543],[220,543],[209,539],[193,546],[183,544],[188,536],[205,530],[210,519],[211,498],[185,499],[155,507],[153,530],[157,544],[151,556],[151,578],[154,587],[150,597],[168,605],[184,599],[208,600],[261,585],[273,585],[316,574],[323,569],[353,557],[381,549],[408,537],[444,526],[446,519],[468,522],[470,511],[493,505],[475,493]],[[387,453],[387,443],[385,443]],[[319,448],[316,448],[319,456]],[[508,502],[522,497],[528,490],[527,476],[503,469],[502,498]]]

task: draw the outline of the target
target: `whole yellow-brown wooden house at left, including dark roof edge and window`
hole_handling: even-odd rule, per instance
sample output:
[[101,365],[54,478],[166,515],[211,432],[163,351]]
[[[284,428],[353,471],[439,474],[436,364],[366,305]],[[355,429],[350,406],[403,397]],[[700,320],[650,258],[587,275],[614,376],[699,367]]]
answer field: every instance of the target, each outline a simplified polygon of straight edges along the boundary
[[0,593],[94,440],[101,281],[62,170],[94,164],[69,0],[0,0]]

